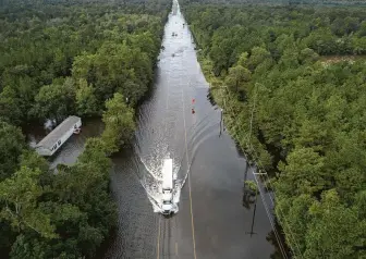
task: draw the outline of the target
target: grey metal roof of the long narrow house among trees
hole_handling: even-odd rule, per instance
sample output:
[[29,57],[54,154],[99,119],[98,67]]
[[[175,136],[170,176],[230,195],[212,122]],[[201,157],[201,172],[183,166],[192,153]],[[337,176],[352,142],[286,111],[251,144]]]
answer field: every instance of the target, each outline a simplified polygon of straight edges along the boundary
[[75,125],[81,119],[78,116],[69,116],[52,132],[50,132],[36,147],[44,147],[51,149],[52,146],[59,140],[71,127]]

